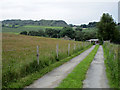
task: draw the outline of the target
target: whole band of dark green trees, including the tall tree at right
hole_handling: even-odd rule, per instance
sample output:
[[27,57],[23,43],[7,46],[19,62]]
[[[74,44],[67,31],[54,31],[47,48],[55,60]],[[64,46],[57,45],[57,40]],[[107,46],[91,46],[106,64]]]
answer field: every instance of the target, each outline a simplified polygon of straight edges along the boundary
[[[63,27],[62,30],[46,28],[45,31],[24,31],[20,34],[51,38],[62,38],[67,36],[71,39],[75,39],[76,41],[85,41],[89,39],[98,38],[101,44],[103,43],[103,41],[108,40],[110,42],[120,44],[120,26],[119,24],[116,24],[112,16],[108,13],[104,13],[99,22],[91,22],[87,26],[85,24],[77,26],[75,29],[73,29],[73,27],[75,26],[69,25],[69,27]],[[97,27],[98,31],[83,32],[83,28],[86,27]]]

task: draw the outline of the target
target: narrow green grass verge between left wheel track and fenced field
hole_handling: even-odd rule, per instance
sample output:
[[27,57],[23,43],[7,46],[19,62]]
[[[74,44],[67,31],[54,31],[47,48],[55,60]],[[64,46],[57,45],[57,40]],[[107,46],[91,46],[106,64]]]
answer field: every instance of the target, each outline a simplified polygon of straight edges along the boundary
[[[30,85],[31,83],[33,83],[33,81],[37,80],[38,78],[42,77],[43,75],[45,75],[46,73],[52,71],[54,68],[64,64],[65,62],[69,61],[70,59],[74,58],[75,56],[81,54],[82,52],[84,52],[85,50],[89,49],[92,45],[86,47],[84,50],[81,50],[80,52],[77,52],[65,59],[60,60],[59,62],[56,62],[54,64],[51,64],[48,67],[43,68],[42,70],[36,71],[32,74],[27,75],[24,78],[18,79],[16,82],[14,83],[10,83],[7,88],[24,88],[25,86]],[[3,87],[4,88],[4,87]]]

